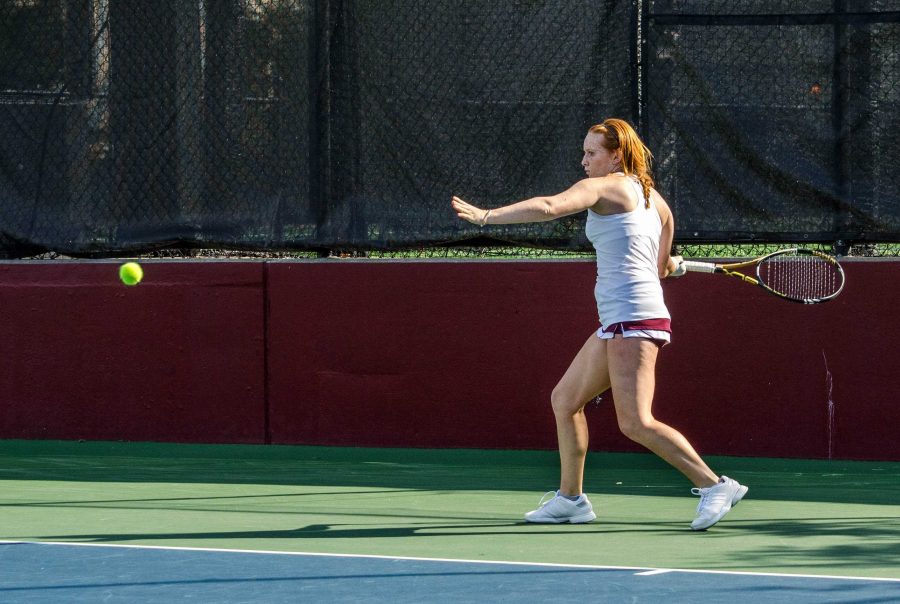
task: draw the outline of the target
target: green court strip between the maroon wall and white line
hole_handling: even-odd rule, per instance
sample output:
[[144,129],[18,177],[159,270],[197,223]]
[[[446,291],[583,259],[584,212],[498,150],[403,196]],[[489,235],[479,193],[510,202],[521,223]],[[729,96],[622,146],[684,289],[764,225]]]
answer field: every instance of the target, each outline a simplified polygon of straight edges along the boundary
[[528,525],[555,452],[0,441],[0,540],[900,578],[900,463],[708,457],[707,532],[651,455],[589,455],[586,525]]

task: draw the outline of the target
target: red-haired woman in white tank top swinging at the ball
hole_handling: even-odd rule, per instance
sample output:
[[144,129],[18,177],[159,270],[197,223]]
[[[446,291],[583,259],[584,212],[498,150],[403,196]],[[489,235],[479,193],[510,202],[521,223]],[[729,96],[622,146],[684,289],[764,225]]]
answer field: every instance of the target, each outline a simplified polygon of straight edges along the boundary
[[625,121],[608,119],[588,130],[581,165],[587,178],[548,197],[482,209],[459,197],[457,216],[473,224],[554,220],[587,210],[586,234],[597,251],[594,296],[600,328],[591,333],[551,395],[559,441],[559,490],[525,514],[529,522],[581,523],[596,518],[583,493],[588,450],[585,405],[612,389],[619,429],[681,471],[700,496],[694,530],[731,510],[747,487],[716,475],[687,439],[653,417],[656,356],[670,341],[670,315],[660,279],[682,273],[670,256],[675,223],[653,188],[650,150]]

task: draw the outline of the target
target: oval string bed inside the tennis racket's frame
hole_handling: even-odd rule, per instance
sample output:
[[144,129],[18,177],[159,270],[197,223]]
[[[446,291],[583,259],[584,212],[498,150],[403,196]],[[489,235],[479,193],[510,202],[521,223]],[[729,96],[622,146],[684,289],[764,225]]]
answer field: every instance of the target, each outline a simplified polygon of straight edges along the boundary
[[835,263],[810,254],[783,254],[763,261],[758,275],[768,287],[797,300],[820,300],[843,284]]

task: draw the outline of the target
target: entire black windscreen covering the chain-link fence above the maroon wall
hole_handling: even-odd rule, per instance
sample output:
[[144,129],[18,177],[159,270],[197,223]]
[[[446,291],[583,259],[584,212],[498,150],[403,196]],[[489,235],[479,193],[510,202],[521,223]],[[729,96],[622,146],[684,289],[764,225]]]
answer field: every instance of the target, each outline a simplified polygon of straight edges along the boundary
[[681,242],[896,241],[900,0],[0,0],[0,255],[478,229],[638,126]]

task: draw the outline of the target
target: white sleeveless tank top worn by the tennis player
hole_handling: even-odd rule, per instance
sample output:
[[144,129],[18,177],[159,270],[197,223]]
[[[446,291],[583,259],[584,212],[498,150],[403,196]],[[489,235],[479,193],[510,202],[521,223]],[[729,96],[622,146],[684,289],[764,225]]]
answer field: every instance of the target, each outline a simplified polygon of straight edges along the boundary
[[600,324],[669,319],[663,301],[657,262],[662,223],[646,198],[640,182],[628,178],[637,192],[631,212],[602,216],[588,210],[585,234],[597,250],[597,285],[594,298]]

